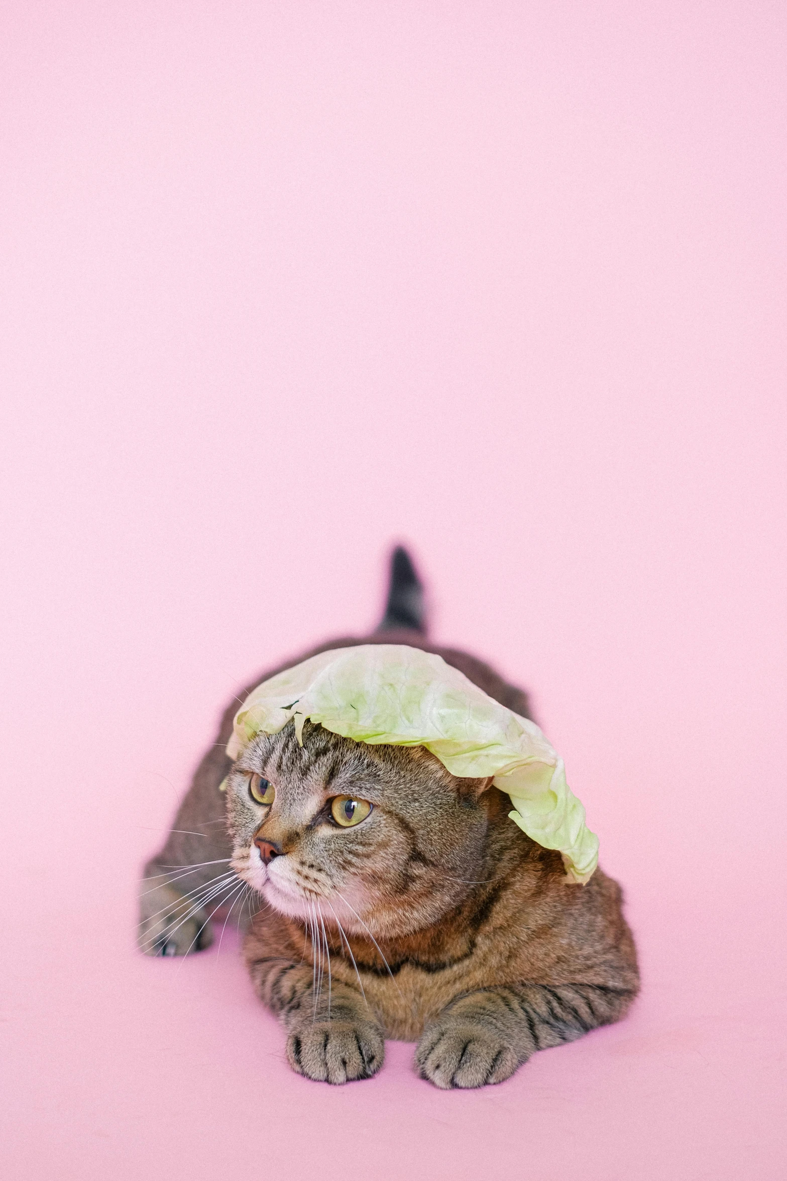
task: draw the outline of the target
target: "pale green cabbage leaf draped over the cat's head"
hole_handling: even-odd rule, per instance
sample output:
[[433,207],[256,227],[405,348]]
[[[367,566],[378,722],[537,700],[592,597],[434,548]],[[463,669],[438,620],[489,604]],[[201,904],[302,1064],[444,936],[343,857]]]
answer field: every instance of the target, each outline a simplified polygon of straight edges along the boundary
[[558,849],[566,877],[586,882],[598,837],[565,782],[563,759],[538,726],[494,702],[442,657],[404,644],[333,648],[271,677],[235,715],[227,746],[237,758],[258,733],[309,718],[372,745],[426,746],[452,775],[493,776],[511,796],[509,816],[546,849]]

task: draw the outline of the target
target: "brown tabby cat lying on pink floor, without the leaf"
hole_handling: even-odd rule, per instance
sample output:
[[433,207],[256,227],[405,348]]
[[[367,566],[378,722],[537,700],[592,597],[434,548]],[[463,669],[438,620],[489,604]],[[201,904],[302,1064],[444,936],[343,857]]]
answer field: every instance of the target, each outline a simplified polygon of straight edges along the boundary
[[[422,587],[401,548],[378,631],[282,667],[369,642],[437,652],[531,716],[526,694],[486,664],[427,642]],[[284,1025],[293,1069],[328,1083],[376,1074],[386,1037],[417,1042],[417,1072],[439,1088],[499,1083],[536,1050],[623,1017],[640,980],[618,885],[601,869],[566,885],[559,854],[509,820],[491,779],[457,778],[424,748],[356,743],[308,722],[302,745],[290,723],[232,764],[237,707],[145,869],[143,951],[199,951],[217,903],[248,908],[255,990]]]

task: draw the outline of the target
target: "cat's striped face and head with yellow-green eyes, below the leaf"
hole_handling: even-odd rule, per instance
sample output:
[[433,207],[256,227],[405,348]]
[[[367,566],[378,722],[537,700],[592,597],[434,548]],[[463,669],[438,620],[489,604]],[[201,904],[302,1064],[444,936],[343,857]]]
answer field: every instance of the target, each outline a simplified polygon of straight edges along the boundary
[[479,877],[490,779],[422,748],[313,726],[260,735],[228,779],[232,868],[275,909],[393,937],[434,922]]

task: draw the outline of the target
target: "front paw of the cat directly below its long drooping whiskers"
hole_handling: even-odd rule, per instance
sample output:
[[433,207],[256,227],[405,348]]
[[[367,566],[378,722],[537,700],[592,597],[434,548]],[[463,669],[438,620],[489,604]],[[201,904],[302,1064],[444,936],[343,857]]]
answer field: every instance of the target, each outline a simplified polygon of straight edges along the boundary
[[372,1022],[315,1022],[290,1033],[293,1070],[321,1083],[349,1083],[376,1075],[385,1057],[382,1033]]

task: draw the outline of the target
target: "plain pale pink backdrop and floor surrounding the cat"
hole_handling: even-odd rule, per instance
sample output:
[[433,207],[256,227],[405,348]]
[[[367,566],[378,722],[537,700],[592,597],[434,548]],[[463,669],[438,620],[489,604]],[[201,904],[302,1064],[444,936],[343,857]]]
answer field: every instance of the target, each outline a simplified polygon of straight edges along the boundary
[[[8,4],[8,1177],[783,1177],[783,4]],[[527,684],[631,1017],[511,1082],[300,1079],[138,867],[258,668]]]

